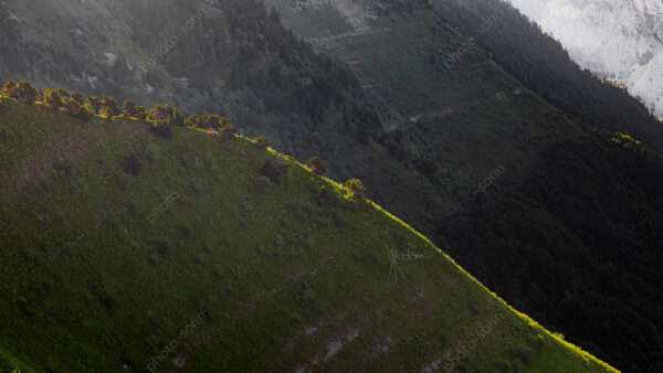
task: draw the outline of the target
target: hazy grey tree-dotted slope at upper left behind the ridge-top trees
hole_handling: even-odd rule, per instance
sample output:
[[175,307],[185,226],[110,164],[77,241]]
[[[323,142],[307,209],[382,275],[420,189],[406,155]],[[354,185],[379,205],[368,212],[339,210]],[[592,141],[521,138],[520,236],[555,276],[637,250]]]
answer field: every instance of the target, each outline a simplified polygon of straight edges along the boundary
[[349,71],[257,1],[10,1],[0,19],[2,82],[223,115],[298,159],[357,145],[379,126]]

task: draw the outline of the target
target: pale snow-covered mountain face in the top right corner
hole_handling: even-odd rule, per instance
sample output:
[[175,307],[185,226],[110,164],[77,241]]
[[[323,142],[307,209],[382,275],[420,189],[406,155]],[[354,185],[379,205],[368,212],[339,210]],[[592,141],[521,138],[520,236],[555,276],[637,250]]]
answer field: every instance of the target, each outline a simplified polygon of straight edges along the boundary
[[511,0],[582,67],[663,117],[663,0]]

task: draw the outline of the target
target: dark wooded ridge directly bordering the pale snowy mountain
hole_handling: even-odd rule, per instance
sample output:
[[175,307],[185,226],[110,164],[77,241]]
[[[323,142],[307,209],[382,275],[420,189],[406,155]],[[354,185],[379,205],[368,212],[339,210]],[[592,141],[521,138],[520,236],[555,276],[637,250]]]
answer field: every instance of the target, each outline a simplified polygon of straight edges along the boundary
[[[663,149],[656,118],[623,87],[580,70],[559,41],[501,0],[434,0],[441,18],[492,54],[524,85],[580,122],[628,131]],[[449,54],[441,54],[443,61]],[[461,64],[467,63],[462,61]]]

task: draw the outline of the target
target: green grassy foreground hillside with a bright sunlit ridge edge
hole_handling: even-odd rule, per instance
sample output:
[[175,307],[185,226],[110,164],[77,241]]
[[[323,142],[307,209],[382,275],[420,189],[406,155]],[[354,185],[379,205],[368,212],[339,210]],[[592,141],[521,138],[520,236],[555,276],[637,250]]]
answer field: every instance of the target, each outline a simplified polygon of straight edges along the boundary
[[611,371],[245,138],[4,98],[0,145],[2,371]]

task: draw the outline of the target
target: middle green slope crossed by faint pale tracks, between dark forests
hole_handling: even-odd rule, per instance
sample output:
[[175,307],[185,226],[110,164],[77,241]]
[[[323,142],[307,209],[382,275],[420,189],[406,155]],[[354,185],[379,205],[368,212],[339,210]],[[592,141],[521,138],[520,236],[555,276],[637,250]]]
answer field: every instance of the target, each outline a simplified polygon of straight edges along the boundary
[[[383,3],[350,1],[348,10],[333,1],[296,7],[286,0],[266,1],[281,12],[286,28],[350,65],[380,108],[385,132],[376,136],[378,142],[415,169],[427,188],[406,190],[401,185],[408,178],[379,170],[355,175],[378,202],[442,242],[443,219],[472,198],[493,169],[503,166],[509,178],[516,177],[540,157],[546,143],[581,131],[480,47],[467,52],[467,65],[448,68],[444,51],[467,39],[430,9],[418,4],[398,12]],[[424,193],[425,203],[411,200]]]

